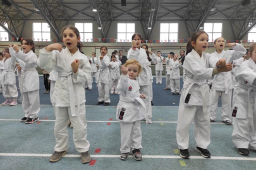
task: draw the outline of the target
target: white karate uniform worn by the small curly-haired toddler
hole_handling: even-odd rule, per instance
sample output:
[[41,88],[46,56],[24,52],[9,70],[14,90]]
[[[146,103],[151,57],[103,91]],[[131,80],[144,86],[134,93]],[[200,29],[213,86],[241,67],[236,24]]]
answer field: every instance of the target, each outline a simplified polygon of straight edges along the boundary
[[116,120],[119,120],[121,128],[121,153],[142,150],[140,120],[145,118],[149,123],[149,118],[145,103],[140,99],[139,89],[138,81],[122,74],[118,83],[119,103],[116,107]]

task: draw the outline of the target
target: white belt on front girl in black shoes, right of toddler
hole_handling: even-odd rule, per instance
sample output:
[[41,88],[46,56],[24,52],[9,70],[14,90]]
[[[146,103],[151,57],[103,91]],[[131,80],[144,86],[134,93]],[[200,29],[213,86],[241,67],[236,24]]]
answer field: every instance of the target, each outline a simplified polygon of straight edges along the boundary
[[188,86],[188,92],[185,94],[185,98],[188,95],[188,93],[190,93],[190,89],[192,88],[193,85],[196,84],[197,86],[199,86],[200,92],[201,92],[202,97],[203,97],[203,110],[204,110],[204,113],[206,113],[206,111],[207,111],[207,100],[208,99],[207,99],[207,96],[205,96],[205,89],[202,86],[203,84],[207,84],[206,80],[193,80],[193,79],[190,79],[189,77],[186,77],[186,82],[189,82],[190,86]]

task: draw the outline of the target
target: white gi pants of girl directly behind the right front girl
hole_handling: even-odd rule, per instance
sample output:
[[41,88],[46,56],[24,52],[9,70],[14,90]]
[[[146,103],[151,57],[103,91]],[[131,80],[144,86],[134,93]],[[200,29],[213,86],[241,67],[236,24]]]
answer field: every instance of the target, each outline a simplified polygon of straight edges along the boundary
[[216,95],[214,96],[214,90],[210,89],[210,119],[216,120],[219,93],[221,93],[221,120],[231,121],[232,90],[229,90],[227,94],[225,91],[216,90]]

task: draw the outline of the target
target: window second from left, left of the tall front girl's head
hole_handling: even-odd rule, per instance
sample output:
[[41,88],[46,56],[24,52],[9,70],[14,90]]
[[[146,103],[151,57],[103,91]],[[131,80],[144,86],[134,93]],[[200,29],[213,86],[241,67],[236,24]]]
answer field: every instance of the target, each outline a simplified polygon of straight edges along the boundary
[[33,23],[35,41],[51,42],[51,29],[47,23]]

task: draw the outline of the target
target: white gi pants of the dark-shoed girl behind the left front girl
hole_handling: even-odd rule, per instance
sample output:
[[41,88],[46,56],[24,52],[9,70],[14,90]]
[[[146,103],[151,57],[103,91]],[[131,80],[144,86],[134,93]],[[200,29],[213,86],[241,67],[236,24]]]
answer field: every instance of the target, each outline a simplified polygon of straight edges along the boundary
[[39,90],[23,93],[22,109],[27,118],[37,118],[40,111]]

